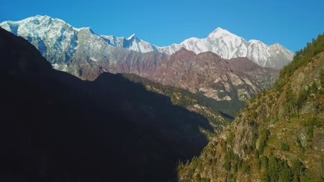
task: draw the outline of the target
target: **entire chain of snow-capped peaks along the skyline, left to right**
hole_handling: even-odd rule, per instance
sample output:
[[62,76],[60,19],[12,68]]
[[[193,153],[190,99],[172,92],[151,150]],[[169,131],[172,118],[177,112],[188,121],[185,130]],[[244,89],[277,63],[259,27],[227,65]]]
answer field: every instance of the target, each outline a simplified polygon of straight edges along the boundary
[[[84,44],[91,45],[87,49],[94,52],[93,54],[88,53],[89,59],[92,61],[109,59],[111,48],[125,48],[136,52],[156,51],[165,54],[172,54],[181,48],[186,48],[196,54],[207,51],[214,52],[223,59],[247,57],[263,67],[281,69],[292,60],[294,55],[278,43],[266,45],[257,40],[246,41],[222,28],[211,32],[206,39],[190,38],[180,44],[159,47],[138,39],[135,34],[127,39],[97,35],[90,28],[73,28],[61,19],[53,19],[48,16],[37,15],[21,21],[4,21],[0,23],[0,26],[28,39],[48,61],[55,63],[69,62],[78,49],[84,48]],[[101,52],[99,53],[98,50]]]

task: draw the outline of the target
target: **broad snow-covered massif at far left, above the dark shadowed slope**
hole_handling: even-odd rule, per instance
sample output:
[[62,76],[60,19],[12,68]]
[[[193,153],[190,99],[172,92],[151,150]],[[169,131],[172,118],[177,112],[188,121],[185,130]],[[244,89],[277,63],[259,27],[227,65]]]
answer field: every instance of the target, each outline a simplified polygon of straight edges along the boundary
[[4,21],[0,26],[20,37],[24,37],[55,64],[66,64],[78,54],[78,50],[89,52],[94,57],[99,50],[109,47],[102,37],[91,28],[74,28],[62,19],[37,15],[21,21]]

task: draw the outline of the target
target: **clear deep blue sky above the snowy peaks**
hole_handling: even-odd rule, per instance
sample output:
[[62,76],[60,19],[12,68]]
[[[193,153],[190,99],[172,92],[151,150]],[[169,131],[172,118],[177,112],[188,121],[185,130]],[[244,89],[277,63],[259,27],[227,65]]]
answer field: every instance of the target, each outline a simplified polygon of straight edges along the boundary
[[96,34],[140,39],[156,45],[204,38],[217,27],[246,40],[280,43],[295,52],[324,32],[324,1],[125,1],[4,0],[0,21],[36,14],[63,19]]

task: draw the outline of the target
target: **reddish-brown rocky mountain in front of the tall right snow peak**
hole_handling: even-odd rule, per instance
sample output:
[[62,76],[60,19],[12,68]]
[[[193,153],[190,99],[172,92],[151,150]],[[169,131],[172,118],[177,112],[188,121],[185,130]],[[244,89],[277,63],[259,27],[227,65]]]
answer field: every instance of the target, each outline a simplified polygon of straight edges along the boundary
[[185,48],[159,61],[155,69],[136,74],[204,95],[214,101],[214,106],[219,103],[221,108],[235,110],[278,78],[277,70],[246,58],[222,59],[213,52],[195,54]]

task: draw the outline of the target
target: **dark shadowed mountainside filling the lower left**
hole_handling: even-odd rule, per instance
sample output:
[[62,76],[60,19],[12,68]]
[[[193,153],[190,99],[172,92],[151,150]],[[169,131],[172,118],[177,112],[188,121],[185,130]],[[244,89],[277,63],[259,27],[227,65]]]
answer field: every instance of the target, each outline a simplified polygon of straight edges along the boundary
[[177,181],[206,118],[120,74],[82,81],[0,28],[0,181]]

